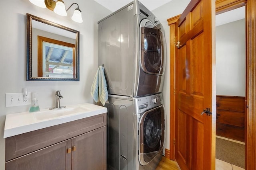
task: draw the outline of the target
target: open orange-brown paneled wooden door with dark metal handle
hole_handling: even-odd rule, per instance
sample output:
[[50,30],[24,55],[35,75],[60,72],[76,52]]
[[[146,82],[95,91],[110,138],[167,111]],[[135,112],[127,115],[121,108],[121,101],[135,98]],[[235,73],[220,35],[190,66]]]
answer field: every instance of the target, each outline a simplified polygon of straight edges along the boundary
[[[176,145],[182,170],[215,170],[215,1],[191,0],[176,22]],[[203,113],[210,109],[211,114]]]

